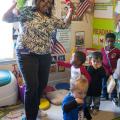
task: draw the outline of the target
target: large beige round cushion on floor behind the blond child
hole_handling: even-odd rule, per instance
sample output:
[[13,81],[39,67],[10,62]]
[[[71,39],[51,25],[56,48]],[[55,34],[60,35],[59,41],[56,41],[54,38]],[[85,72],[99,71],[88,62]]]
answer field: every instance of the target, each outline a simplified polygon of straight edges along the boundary
[[68,90],[56,90],[47,93],[48,100],[54,105],[61,105],[64,96],[68,93]]

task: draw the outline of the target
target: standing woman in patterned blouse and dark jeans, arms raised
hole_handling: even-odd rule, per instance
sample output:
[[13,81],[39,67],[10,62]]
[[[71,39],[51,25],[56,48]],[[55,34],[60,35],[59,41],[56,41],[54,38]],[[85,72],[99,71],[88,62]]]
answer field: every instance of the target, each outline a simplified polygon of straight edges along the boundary
[[17,2],[3,16],[9,23],[19,21],[20,33],[16,44],[19,69],[26,85],[25,118],[36,120],[40,98],[48,82],[51,63],[50,35],[56,28],[66,28],[71,21],[72,9],[65,20],[52,15],[54,0],[35,0],[35,7],[26,6],[14,14]]

